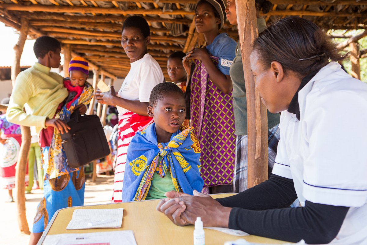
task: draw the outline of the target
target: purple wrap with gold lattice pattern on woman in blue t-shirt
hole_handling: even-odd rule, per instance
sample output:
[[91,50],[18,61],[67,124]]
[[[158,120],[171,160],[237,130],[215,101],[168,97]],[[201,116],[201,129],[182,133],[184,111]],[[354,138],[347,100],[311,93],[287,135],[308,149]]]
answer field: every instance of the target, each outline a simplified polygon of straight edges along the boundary
[[[218,57],[211,59],[218,64]],[[236,146],[232,92],[222,93],[202,62],[195,60],[190,98],[191,125],[202,149],[204,186],[232,184]]]

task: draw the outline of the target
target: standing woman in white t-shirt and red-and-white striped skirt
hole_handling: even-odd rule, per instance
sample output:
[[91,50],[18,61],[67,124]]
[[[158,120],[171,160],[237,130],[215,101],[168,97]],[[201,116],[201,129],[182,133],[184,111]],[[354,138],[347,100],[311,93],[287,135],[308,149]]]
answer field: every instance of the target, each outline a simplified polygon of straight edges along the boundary
[[116,94],[113,86],[109,92],[97,90],[99,103],[115,105],[119,111],[119,140],[115,166],[113,201],[122,201],[122,185],[127,147],[135,133],[145,129],[153,119],[147,114],[149,96],[153,87],[164,81],[162,70],[148,54],[150,30],[146,20],[139,16],[128,17],[122,26],[121,45],[130,59],[130,71]]

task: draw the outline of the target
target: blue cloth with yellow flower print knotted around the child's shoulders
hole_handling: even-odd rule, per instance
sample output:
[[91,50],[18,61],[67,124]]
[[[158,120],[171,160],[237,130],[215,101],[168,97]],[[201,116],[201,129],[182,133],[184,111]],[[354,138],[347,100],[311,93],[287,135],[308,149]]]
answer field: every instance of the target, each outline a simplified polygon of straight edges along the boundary
[[[144,200],[155,172],[161,178],[171,173],[176,191],[191,195],[193,190],[201,191],[204,181],[200,177],[199,141],[193,134],[193,127],[181,129],[172,134],[169,143],[157,143],[156,128],[152,123],[131,140],[123,202]],[[159,156],[162,159],[158,162]]]

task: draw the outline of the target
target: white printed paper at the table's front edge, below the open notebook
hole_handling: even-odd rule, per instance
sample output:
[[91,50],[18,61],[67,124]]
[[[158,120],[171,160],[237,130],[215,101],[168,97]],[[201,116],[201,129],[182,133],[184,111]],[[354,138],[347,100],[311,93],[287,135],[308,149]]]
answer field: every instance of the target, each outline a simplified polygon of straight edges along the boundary
[[133,231],[47,235],[43,245],[137,245]]

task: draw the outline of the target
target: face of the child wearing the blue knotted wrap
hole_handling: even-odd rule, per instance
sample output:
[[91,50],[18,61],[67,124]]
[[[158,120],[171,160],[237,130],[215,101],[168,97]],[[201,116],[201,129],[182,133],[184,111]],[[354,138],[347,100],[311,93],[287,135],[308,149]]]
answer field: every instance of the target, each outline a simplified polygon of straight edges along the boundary
[[185,99],[177,93],[166,94],[154,107],[149,105],[148,115],[154,118],[157,141],[169,142],[185,120]]

